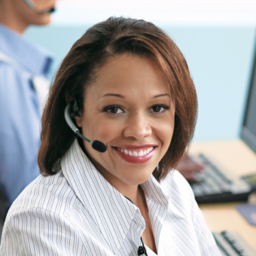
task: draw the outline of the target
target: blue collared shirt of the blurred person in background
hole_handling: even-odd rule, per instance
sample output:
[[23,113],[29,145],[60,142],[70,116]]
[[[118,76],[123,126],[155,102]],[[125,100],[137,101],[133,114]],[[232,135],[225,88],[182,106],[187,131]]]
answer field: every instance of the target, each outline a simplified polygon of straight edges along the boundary
[[0,184],[10,206],[39,175],[41,116],[32,77],[47,77],[51,58],[1,24],[0,51],[21,67],[0,59]]

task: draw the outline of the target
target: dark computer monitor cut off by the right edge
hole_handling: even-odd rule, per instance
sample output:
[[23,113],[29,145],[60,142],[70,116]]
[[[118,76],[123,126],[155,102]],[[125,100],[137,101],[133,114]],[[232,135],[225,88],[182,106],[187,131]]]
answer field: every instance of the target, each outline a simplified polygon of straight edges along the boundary
[[251,80],[242,122],[241,139],[256,154],[256,44],[254,51],[254,62],[251,69]]

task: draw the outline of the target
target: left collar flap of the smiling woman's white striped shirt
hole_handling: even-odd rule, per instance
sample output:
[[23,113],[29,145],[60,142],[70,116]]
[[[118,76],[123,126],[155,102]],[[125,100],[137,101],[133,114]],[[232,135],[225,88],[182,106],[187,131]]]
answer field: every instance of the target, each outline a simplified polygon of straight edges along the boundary
[[[78,199],[96,222],[111,250],[117,252],[130,232],[139,209],[126,200],[90,162],[77,139],[63,157],[62,172]],[[144,230],[141,219],[135,218]],[[138,237],[138,241],[139,241]]]

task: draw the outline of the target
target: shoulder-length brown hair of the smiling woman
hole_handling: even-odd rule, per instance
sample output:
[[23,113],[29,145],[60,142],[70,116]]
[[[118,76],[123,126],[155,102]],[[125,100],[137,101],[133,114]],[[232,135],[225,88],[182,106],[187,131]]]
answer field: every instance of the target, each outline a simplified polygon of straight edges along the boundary
[[87,87],[99,69],[122,53],[154,56],[166,74],[175,104],[175,127],[168,151],[153,174],[160,181],[177,166],[190,144],[197,119],[197,93],[187,62],[172,39],[153,23],[110,17],[92,26],[75,42],[56,73],[42,116],[38,153],[42,174],[59,171],[60,161],[76,137],[64,118],[66,104],[76,99],[83,111]]

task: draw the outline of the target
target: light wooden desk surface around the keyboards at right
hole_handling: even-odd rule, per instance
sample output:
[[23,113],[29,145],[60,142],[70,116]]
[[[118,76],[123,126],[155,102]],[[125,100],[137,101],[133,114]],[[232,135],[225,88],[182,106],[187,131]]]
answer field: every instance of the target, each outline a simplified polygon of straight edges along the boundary
[[[190,154],[203,153],[213,157],[216,165],[228,172],[241,176],[256,172],[256,154],[239,139],[220,142],[197,142],[192,145]],[[254,201],[251,197],[249,201]],[[239,203],[217,203],[200,205],[200,209],[212,231],[236,231],[242,239],[256,251],[256,227],[236,210]]]

